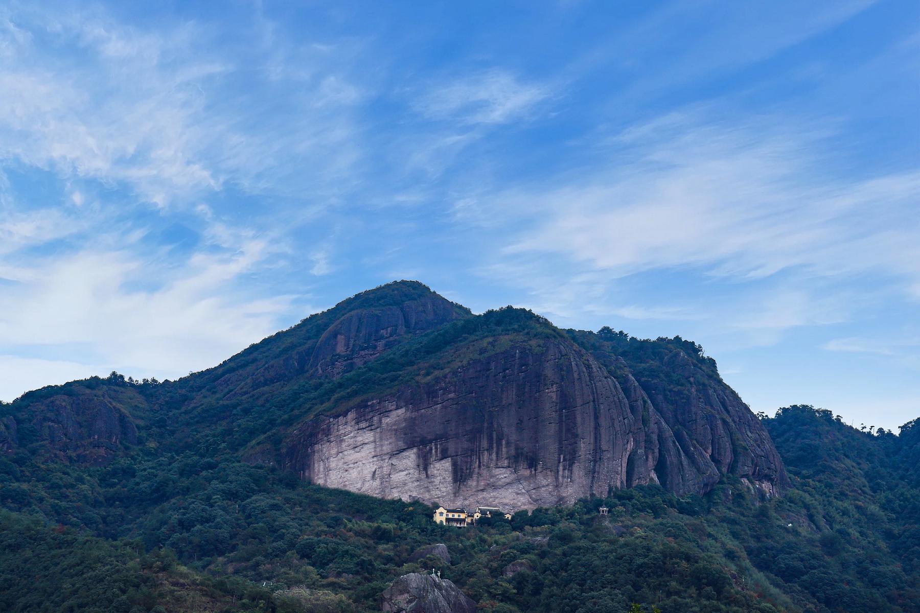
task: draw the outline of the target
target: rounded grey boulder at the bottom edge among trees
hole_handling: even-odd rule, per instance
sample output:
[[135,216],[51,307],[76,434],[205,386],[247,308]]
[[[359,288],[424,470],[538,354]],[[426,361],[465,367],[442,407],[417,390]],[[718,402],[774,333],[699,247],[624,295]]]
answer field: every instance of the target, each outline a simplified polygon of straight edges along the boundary
[[447,579],[409,573],[385,589],[380,610],[392,613],[476,613],[476,603]]

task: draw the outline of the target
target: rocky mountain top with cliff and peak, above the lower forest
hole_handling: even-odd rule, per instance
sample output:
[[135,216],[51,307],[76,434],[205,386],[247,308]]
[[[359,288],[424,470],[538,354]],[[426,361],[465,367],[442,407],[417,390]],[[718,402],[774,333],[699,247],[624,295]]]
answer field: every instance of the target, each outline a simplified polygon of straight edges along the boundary
[[509,510],[644,483],[704,494],[722,475],[763,496],[788,487],[764,427],[694,343],[560,330],[511,307],[474,315],[414,281],[213,369],[123,383],[30,392],[0,415],[0,446],[21,446],[25,427],[29,443],[101,463],[149,428],[161,450],[207,446],[329,487]]

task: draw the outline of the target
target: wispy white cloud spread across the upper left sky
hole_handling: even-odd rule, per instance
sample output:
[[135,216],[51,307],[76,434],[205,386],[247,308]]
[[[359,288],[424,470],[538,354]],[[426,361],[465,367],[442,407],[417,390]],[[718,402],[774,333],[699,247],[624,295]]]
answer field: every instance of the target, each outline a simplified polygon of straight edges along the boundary
[[[124,184],[160,206],[228,184],[253,193],[311,185],[271,180],[294,173],[316,190],[356,159],[349,109],[360,92],[321,54],[300,58],[306,74],[276,75],[289,96],[258,99],[234,85],[259,55],[216,51],[207,28],[139,31],[92,12],[61,13],[21,11],[0,30],[0,156]],[[283,112],[286,125],[254,121],[262,112]]]

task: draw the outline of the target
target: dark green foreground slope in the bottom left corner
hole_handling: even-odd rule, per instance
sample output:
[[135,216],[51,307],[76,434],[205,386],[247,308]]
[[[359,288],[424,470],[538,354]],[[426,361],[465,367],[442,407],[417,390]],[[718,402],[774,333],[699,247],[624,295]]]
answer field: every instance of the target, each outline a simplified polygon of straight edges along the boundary
[[3,510],[0,585],[0,610],[10,613],[281,610],[257,585],[214,582],[171,551],[148,554],[137,540],[98,539]]

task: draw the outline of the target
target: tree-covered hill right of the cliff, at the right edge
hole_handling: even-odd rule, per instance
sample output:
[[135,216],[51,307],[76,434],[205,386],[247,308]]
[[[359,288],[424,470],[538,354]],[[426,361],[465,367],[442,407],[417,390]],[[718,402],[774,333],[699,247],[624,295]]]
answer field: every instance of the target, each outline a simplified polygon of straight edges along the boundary
[[761,545],[754,551],[761,567],[776,575],[777,584],[799,585],[830,610],[846,603],[850,608],[839,610],[916,610],[915,421],[903,426],[900,437],[872,434],[846,426],[830,411],[793,405],[764,422],[796,486],[777,511],[803,544],[791,550]]

